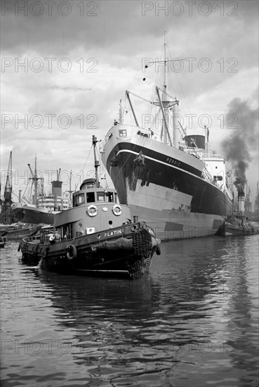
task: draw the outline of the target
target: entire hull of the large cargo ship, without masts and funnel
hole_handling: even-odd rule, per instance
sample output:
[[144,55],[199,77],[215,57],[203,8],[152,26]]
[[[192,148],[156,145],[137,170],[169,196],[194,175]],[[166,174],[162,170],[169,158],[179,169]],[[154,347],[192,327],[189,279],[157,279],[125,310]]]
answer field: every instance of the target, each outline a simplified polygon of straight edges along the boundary
[[[118,136],[121,128],[126,139]],[[232,210],[230,189],[204,176],[202,160],[142,137],[134,127],[110,129],[103,161],[120,203],[162,240],[213,235]]]

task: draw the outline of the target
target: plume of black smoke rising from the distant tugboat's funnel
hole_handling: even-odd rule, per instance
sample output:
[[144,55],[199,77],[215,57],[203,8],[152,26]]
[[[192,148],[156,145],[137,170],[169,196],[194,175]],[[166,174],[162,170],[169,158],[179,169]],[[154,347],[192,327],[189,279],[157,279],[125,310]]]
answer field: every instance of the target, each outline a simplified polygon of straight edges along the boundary
[[221,146],[226,159],[232,163],[235,173],[234,185],[244,192],[246,170],[253,159],[252,151],[258,146],[258,108],[251,108],[248,101],[235,98],[228,104],[228,127],[232,129]]

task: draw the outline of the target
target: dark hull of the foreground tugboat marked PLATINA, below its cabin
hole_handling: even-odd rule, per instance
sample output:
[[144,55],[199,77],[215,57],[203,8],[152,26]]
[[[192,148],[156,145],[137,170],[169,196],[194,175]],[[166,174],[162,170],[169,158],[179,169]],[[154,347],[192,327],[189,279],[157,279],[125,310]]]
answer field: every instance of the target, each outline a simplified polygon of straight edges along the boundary
[[67,241],[22,240],[22,262],[62,274],[147,277],[159,239],[145,224],[126,224]]

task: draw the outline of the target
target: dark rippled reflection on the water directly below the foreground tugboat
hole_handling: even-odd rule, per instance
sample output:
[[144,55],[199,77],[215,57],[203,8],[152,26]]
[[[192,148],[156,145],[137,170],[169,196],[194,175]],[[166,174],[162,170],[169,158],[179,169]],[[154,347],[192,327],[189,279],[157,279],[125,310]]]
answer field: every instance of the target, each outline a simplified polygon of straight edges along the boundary
[[57,274],[37,275],[48,289],[57,324],[73,331],[74,363],[86,367],[91,381],[148,380],[162,368],[172,369],[173,353],[161,356],[140,341],[143,323],[152,321],[159,301],[159,286],[152,281],[71,277],[68,283]]

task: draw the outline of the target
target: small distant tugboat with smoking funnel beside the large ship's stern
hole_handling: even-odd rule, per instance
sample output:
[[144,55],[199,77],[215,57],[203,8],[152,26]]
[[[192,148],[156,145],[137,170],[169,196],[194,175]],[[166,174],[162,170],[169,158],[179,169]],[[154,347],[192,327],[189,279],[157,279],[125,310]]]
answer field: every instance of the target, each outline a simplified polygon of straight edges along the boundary
[[259,227],[253,226],[248,217],[244,215],[245,195],[244,191],[239,190],[237,196],[238,209],[234,212],[234,198],[232,199],[232,214],[227,215],[225,222],[218,229],[217,235],[235,236],[259,234]]

